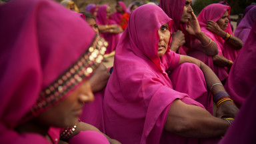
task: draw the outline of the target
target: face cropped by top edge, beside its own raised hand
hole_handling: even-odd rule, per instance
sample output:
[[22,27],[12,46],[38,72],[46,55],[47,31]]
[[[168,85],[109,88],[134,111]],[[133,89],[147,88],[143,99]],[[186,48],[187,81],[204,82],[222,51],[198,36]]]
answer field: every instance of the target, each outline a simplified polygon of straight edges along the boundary
[[191,13],[193,11],[191,5],[192,5],[192,0],[185,1],[185,6],[183,9],[183,13],[181,15],[181,23],[187,23],[191,19]]

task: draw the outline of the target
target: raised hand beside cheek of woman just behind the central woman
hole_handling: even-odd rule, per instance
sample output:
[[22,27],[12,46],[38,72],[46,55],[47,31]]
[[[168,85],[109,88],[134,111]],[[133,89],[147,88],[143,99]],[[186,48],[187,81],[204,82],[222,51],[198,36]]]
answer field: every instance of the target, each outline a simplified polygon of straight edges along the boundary
[[191,20],[189,20],[189,22],[187,23],[186,31],[190,35],[194,35],[194,36],[201,33],[201,28],[194,12],[191,13]]

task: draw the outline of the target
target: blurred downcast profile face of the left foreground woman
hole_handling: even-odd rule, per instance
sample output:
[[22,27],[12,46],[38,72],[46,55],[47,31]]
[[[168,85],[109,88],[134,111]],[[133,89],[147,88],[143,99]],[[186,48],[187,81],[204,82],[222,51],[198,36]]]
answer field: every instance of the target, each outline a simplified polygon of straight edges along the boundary
[[88,80],[84,81],[73,93],[57,105],[41,113],[36,121],[53,127],[69,127],[77,123],[83,113],[84,103],[93,101],[94,96]]

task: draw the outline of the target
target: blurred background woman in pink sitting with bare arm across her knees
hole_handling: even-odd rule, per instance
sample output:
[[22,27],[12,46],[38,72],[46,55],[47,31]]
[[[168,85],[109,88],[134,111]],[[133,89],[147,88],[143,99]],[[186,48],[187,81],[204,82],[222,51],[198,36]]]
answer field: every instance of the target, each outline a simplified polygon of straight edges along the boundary
[[119,33],[123,32],[123,29],[115,21],[109,19],[110,12],[109,5],[101,5],[96,17],[99,33],[109,43],[106,54],[115,51],[120,37]]

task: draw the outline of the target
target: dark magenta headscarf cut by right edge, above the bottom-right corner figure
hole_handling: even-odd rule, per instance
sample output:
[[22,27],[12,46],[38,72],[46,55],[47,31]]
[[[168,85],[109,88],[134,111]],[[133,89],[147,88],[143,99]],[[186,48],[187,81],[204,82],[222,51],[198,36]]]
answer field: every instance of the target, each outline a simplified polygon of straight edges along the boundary
[[243,45],[237,59],[235,60],[229,78],[225,84],[225,89],[231,95],[238,107],[243,105],[247,95],[250,93],[256,82],[256,21],[253,24],[251,33]]

